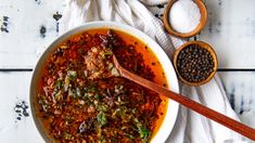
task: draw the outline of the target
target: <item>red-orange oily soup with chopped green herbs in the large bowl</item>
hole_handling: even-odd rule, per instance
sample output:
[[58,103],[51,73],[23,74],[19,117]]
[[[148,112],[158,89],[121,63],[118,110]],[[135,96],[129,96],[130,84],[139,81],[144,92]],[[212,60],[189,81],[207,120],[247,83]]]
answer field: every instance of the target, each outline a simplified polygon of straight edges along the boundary
[[102,74],[120,65],[167,87],[156,56],[119,30],[91,29],[60,43],[44,64],[37,95],[38,117],[58,142],[149,142],[158,130],[167,99],[132,81]]

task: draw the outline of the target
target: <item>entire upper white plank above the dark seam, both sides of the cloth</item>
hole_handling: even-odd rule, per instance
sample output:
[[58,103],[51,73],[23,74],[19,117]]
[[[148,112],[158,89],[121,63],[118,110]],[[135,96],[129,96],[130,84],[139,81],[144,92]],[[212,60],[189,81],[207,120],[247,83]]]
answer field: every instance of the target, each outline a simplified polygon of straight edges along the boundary
[[[255,1],[206,0],[205,3],[209,20],[197,39],[215,48],[220,68],[255,68]],[[62,32],[62,29],[56,31],[53,14],[63,14],[65,8],[63,0],[0,0],[0,26],[9,31],[0,31],[0,68],[33,68],[49,43]],[[162,17],[164,8],[150,6],[150,10]],[[63,17],[59,20],[60,27]]]

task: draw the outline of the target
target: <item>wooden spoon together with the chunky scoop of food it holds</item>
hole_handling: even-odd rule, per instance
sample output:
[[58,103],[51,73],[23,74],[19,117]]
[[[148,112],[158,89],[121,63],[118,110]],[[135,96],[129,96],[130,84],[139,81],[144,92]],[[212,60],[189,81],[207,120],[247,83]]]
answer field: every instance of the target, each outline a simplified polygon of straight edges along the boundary
[[[105,56],[104,53],[109,53],[110,56]],[[158,94],[162,94],[168,99],[171,99],[186,107],[233,130],[240,134],[255,140],[255,129],[250,128],[232,118],[229,118],[214,109],[211,109],[197,102],[194,102],[184,95],[175,93],[157,83],[154,83],[148,79],[137,76],[124,67],[122,67],[114,55],[113,51],[106,47],[93,47],[88,51],[88,55],[85,57],[85,64],[87,67],[86,76],[90,80],[104,80],[111,77],[123,77],[131,80],[144,88],[148,88]]]

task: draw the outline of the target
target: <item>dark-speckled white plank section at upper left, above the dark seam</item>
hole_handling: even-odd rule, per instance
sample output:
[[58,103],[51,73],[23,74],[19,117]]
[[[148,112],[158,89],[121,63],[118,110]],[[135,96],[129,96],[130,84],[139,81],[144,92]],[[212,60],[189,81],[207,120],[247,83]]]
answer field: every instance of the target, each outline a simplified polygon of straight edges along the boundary
[[33,68],[60,36],[62,18],[53,15],[65,6],[63,0],[0,0],[0,68]]

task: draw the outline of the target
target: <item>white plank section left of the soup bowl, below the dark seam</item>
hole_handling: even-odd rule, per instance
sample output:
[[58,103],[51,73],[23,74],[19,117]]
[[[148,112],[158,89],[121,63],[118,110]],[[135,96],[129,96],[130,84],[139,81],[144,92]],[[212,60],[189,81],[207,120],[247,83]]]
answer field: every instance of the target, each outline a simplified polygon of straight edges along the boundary
[[[0,73],[0,136],[3,143],[43,143],[28,105],[30,76],[30,72]],[[22,108],[16,108],[22,113],[14,110],[22,102],[28,105],[28,116],[23,114]]]

